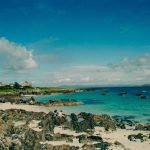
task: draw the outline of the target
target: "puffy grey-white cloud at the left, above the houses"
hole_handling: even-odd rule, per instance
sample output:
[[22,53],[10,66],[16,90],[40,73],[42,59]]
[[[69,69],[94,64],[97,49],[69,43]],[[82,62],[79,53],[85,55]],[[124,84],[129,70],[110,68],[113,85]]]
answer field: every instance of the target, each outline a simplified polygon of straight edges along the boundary
[[9,71],[21,73],[37,66],[32,51],[6,38],[0,38],[0,53],[6,56],[7,66],[5,69]]

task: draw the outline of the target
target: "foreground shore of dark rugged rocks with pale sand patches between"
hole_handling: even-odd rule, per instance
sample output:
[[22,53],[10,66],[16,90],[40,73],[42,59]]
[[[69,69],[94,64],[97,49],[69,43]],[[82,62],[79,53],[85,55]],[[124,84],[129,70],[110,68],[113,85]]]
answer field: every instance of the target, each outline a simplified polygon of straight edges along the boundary
[[149,150],[150,124],[108,115],[0,110],[0,150]]

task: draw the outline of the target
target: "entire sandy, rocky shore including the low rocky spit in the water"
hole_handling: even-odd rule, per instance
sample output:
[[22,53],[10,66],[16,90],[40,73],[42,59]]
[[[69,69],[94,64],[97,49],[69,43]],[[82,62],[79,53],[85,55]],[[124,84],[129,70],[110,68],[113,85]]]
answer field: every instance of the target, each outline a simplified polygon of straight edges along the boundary
[[[26,98],[23,99],[6,95],[0,103],[0,130],[5,131],[0,133],[0,144],[13,143],[16,149],[41,149],[44,146],[46,150],[56,147],[60,150],[149,150],[150,123],[125,119],[123,114],[113,117],[108,113],[81,113],[81,110],[67,112],[68,106],[76,107],[82,103],[74,99],[38,102],[33,96],[36,95],[24,95]],[[7,133],[10,128],[15,129]],[[19,145],[12,138],[14,135],[21,136],[17,138]],[[30,136],[34,138],[30,139]]]

